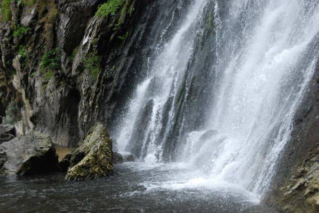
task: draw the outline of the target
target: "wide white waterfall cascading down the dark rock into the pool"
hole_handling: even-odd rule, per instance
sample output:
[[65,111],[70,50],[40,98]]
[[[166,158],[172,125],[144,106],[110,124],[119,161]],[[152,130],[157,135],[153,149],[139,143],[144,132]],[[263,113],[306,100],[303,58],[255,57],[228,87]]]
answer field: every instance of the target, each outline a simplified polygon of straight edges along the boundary
[[119,149],[262,196],[318,65],[319,1],[193,0],[171,34],[143,62]]

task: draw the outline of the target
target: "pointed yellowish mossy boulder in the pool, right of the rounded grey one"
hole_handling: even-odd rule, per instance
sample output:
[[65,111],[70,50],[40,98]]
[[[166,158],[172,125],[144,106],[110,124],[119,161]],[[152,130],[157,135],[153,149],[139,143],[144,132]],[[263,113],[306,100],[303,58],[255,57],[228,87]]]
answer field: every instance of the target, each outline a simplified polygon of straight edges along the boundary
[[66,180],[89,180],[113,174],[112,139],[101,123],[91,128],[71,155]]

